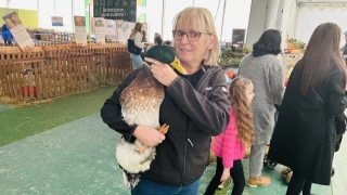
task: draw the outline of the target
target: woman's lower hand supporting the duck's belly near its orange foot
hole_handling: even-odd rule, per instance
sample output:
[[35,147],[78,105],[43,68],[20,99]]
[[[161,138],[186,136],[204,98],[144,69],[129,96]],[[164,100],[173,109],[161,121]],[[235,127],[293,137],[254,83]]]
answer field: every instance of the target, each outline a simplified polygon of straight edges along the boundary
[[147,126],[138,126],[132,133],[141,143],[146,146],[155,146],[165,140],[165,135],[156,129]]

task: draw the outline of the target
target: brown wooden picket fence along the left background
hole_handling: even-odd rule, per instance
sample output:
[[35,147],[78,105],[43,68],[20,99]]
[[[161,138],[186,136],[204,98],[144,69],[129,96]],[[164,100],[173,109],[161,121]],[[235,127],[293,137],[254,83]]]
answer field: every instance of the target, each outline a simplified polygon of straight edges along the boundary
[[131,72],[123,44],[0,48],[0,96],[47,100],[120,82]]

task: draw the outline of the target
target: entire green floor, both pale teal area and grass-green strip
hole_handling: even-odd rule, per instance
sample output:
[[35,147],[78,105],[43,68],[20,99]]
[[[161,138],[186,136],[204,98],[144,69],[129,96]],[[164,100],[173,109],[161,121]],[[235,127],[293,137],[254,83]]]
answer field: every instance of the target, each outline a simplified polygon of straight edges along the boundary
[[[35,106],[0,105],[0,195],[129,194],[115,160],[119,134],[104,125],[99,110],[116,87],[101,88]],[[1,109],[2,108],[2,109]],[[316,195],[346,195],[347,139],[336,153],[331,186],[313,185]],[[245,177],[248,160],[243,160]],[[244,195],[282,195],[282,167],[264,170],[268,187],[245,187]],[[210,165],[200,194],[214,176]],[[216,194],[230,194],[226,184]]]

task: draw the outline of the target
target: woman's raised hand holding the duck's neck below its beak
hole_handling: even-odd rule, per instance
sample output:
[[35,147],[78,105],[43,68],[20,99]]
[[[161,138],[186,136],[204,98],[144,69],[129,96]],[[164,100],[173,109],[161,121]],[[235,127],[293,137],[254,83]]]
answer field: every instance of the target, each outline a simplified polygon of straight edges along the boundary
[[153,73],[154,78],[166,87],[169,87],[178,77],[168,64],[160,63],[159,61],[150,57],[144,57],[144,61],[152,63],[151,72]]

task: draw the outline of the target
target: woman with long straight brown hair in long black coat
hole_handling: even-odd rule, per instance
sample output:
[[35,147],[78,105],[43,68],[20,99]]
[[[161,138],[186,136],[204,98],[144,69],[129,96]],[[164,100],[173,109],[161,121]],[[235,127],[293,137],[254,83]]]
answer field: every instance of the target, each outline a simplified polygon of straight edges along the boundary
[[312,183],[330,185],[333,117],[344,113],[347,102],[340,35],[336,24],[318,26],[288,80],[268,155],[293,170],[287,195],[308,195]]

